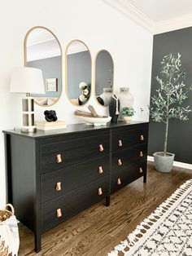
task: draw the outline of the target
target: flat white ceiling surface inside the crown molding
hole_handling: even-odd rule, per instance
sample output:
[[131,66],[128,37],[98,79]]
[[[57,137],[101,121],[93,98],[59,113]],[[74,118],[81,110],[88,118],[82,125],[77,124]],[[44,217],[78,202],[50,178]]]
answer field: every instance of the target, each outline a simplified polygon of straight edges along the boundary
[[149,19],[159,22],[192,14],[191,0],[126,0]]

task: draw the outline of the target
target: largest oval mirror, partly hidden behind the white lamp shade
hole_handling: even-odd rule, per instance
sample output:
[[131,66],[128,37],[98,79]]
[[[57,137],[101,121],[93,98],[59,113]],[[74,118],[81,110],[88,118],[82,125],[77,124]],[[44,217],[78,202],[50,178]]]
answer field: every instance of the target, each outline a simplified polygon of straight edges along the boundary
[[62,51],[55,34],[44,27],[30,29],[24,39],[24,64],[42,70],[45,95],[32,95],[36,104],[55,104],[62,91]]

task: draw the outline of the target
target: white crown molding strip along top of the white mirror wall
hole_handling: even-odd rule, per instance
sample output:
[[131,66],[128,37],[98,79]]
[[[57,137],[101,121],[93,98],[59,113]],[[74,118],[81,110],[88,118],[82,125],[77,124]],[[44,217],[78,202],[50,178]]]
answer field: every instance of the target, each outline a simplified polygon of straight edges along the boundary
[[136,7],[130,4],[126,0],[104,0],[111,7],[114,7],[117,11],[120,11],[124,15],[128,16],[131,20],[151,33],[155,33],[155,22],[149,19],[146,15],[139,11]]

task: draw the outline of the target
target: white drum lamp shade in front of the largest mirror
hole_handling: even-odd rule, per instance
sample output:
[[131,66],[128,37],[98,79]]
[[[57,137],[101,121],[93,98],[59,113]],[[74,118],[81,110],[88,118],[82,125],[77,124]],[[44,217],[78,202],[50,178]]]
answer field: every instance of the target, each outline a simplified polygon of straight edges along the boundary
[[10,91],[15,93],[45,94],[41,69],[13,68]]

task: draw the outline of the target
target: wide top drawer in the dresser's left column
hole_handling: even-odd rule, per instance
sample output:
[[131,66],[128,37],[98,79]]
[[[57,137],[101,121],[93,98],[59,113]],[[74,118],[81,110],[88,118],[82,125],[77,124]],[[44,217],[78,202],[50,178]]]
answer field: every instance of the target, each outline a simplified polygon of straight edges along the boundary
[[41,173],[109,154],[109,133],[41,146]]

